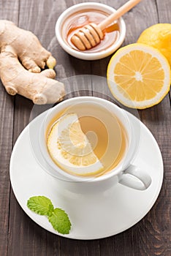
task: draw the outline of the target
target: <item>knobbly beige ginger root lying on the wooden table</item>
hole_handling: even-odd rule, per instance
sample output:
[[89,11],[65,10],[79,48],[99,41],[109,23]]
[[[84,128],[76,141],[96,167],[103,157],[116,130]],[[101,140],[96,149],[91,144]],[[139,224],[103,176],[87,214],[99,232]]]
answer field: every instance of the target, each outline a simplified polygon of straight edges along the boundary
[[[45,65],[50,69],[45,68]],[[52,104],[64,97],[64,84],[53,80],[56,59],[31,33],[8,20],[0,20],[0,78],[6,91]]]

